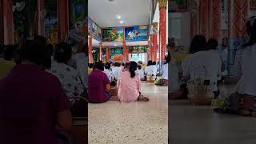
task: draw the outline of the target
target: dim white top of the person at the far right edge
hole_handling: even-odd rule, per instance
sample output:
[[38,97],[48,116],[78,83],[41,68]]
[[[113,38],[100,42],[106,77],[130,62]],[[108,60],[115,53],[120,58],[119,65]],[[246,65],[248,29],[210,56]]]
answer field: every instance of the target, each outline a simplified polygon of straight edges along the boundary
[[237,85],[239,94],[256,96],[256,44],[237,51],[235,65],[240,80]]

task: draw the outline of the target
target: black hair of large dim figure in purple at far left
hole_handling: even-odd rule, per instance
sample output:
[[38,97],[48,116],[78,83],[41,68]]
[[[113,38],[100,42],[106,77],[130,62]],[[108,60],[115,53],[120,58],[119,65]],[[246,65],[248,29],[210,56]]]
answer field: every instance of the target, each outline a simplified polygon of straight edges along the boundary
[[42,69],[48,69],[51,66],[51,61],[49,59],[50,54],[41,42],[36,40],[27,40],[18,52],[19,62],[28,60],[30,62],[34,62]]

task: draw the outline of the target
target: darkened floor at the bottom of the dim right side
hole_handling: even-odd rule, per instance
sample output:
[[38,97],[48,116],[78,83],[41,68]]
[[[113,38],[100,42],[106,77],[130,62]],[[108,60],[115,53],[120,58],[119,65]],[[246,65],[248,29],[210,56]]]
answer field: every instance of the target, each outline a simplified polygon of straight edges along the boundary
[[216,114],[210,106],[191,106],[188,100],[169,103],[171,144],[253,144],[256,118]]

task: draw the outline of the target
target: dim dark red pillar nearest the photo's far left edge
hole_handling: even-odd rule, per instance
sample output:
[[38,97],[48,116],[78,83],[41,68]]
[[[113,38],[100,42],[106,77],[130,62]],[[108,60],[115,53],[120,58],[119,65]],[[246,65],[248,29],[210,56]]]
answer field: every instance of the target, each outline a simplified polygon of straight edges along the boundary
[[2,0],[3,5],[3,27],[4,27],[4,43],[6,45],[14,44],[14,15],[13,1]]

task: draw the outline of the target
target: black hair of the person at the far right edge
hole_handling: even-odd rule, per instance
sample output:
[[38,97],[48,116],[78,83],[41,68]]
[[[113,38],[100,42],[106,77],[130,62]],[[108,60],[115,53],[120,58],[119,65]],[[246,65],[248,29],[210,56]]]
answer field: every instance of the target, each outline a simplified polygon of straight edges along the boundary
[[250,20],[246,23],[246,30],[249,36],[249,42],[246,42],[242,46],[253,46],[256,43],[256,16],[250,17]]

